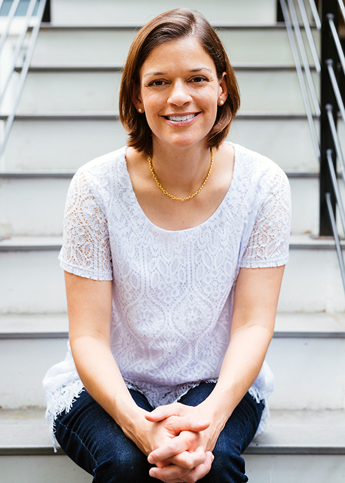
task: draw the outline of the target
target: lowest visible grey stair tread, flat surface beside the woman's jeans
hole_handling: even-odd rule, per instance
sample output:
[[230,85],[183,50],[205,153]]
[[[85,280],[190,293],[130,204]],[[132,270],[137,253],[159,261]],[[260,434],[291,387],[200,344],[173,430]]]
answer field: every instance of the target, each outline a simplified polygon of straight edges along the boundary
[[[42,409],[0,411],[0,455],[51,454]],[[345,454],[345,411],[271,411],[246,453]]]

